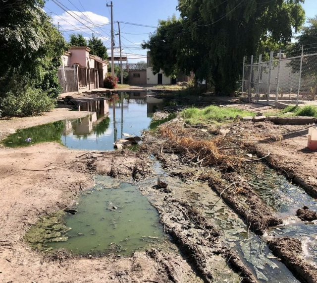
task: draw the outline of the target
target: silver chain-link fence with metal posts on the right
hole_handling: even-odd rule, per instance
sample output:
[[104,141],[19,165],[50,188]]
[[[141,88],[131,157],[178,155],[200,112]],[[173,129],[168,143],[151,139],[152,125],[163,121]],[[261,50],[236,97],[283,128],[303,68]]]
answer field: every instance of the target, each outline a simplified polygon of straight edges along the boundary
[[286,58],[271,52],[269,58],[244,59],[243,97],[270,105],[317,105],[317,53]]

